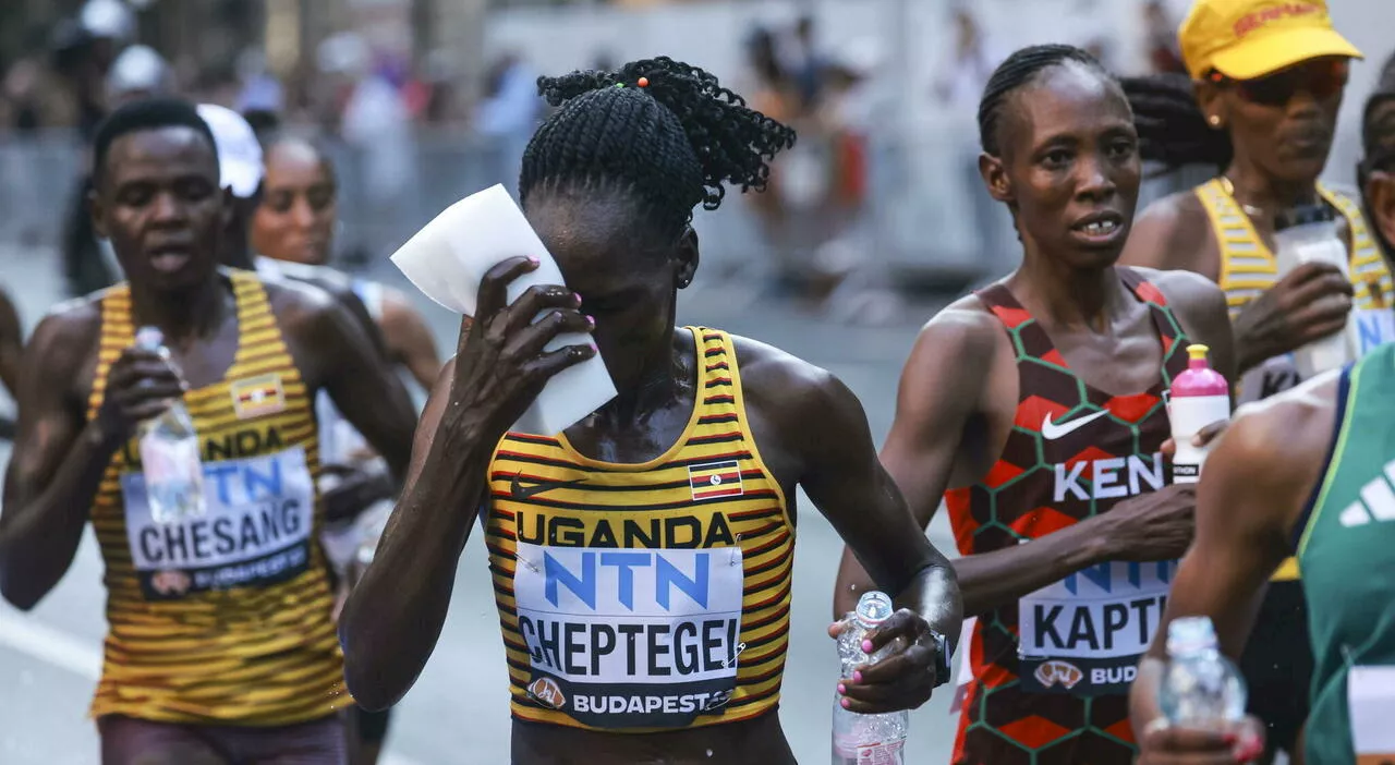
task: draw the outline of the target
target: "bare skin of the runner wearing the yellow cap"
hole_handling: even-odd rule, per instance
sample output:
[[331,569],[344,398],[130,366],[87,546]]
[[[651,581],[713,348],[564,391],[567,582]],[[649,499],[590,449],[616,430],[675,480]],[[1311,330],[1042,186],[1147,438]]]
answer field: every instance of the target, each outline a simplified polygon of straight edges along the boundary
[[[1249,212],[1260,240],[1274,251],[1274,215],[1297,204],[1313,204],[1317,179],[1332,145],[1342,92],[1317,99],[1299,89],[1286,106],[1251,103],[1233,88],[1197,84],[1197,99],[1208,116],[1219,117],[1235,145],[1225,176]],[[1348,253],[1352,232],[1338,215]],[[1152,204],[1138,216],[1120,258],[1124,265],[1191,271],[1221,281],[1221,243],[1211,218],[1191,190]],[[1281,279],[1235,320],[1237,373],[1329,335],[1352,307],[1350,282],[1336,268],[1303,267]],[[1239,377],[1236,377],[1237,380]]]

